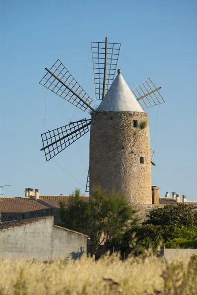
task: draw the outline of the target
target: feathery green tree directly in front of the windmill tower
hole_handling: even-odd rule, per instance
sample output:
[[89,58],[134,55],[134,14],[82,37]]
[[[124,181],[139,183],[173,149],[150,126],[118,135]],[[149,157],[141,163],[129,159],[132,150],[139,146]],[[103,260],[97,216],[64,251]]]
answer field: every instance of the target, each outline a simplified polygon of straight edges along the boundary
[[89,202],[76,189],[67,204],[60,204],[61,226],[90,236],[95,249],[136,224],[135,212],[123,194],[114,190],[106,194],[100,187],[94,190]]

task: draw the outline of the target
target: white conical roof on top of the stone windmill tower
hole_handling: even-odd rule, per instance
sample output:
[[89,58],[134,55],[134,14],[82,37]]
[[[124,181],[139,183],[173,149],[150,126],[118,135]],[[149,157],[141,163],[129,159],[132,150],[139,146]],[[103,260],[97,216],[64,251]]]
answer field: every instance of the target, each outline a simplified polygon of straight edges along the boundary
[[143,112],[140,104],[124,81],[121,70],[99,105],[98,112]]

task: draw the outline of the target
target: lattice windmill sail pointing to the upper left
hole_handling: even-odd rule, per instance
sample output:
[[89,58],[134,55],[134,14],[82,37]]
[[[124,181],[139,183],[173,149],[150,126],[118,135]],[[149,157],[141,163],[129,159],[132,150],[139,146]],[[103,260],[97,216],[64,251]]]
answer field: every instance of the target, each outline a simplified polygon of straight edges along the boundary
[[92,99],[59,59],[49,70],[45,69],[47,74],[39,82],[42,86],[50,89],[83,111],[88,107],[94,111],[90,106]]

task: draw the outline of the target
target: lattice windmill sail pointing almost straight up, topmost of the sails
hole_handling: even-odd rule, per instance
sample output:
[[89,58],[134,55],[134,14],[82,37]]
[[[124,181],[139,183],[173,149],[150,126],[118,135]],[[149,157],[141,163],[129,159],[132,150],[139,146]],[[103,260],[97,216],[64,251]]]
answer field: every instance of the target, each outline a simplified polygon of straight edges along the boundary
[[91,42],[96,99],[103,99],[113,83],[120,46],[120,43]]

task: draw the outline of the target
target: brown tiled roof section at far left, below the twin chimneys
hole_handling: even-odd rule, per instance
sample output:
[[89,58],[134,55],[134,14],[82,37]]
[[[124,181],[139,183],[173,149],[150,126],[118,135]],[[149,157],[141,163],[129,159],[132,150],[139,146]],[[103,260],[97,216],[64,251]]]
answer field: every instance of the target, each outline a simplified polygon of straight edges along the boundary
[[25,213],[48,208],[30,198],[0,197],[0,213]]

